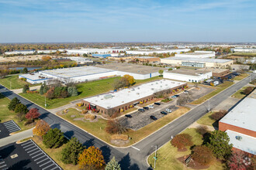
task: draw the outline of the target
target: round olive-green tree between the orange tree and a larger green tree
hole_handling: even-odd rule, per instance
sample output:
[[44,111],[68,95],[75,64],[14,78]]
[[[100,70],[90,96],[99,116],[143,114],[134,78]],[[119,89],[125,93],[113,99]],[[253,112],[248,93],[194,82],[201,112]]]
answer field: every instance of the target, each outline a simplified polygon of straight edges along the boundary
[[64,133],[57,128],[50,129],[47,134],[43,135],[43,145],[47,148],[58,148],[63,145],[64,140]]

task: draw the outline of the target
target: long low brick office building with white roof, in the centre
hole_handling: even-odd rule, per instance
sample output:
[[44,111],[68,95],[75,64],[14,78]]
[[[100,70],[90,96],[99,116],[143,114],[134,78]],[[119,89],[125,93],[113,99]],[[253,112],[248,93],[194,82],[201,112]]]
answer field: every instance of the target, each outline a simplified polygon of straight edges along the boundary
[[95,97],[88,97],[82,100],[89,109],[97,110],[106,114],[109,110],[128,110],[135,104],[147,102],[154,98],[154,93],[164,90],[176,90],[183,88],[187,83],[172,80],[157,80],[144,83],[137,87],[130,87],[113,93],[105,93]]

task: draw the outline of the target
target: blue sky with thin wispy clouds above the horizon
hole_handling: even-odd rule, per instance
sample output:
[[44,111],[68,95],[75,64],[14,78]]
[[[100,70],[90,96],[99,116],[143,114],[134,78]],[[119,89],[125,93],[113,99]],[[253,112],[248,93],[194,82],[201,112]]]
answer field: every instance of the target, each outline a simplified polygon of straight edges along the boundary
[[0,42],[256,42],[256,1],[0,0]]

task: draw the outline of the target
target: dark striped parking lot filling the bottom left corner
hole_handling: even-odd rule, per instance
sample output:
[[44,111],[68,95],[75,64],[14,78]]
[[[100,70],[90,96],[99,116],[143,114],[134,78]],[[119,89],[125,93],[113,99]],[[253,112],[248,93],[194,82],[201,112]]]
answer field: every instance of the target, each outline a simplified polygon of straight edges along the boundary
[[61,169],[34,141],[0,148],[0,169]]

